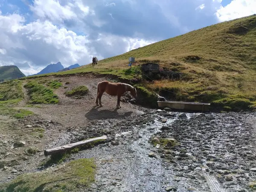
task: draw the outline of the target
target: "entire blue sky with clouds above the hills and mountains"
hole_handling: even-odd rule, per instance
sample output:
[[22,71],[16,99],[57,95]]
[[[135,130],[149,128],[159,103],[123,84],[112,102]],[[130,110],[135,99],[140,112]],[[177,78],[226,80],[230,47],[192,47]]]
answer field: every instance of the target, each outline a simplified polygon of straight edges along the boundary
[[256,13],[256,0],[0,0],[0,66],[89,64]]

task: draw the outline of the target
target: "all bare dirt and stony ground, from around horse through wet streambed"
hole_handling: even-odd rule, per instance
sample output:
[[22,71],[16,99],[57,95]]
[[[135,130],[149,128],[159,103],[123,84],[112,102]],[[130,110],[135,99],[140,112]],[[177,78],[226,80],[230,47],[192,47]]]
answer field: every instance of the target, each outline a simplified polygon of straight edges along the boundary
[[[94,104],[96,84],[102,79],[58,79],[70,82],[67,89],[55,90],[60,104],[28,108],[23,102],[19,108],[29,109],[35,116],[19,121],[0,116],[0,162],[5,162],[0,183],[25,172],[44,170],[41,163],[49,158],[44,156],[46,148],[107,135],[107,143],[68,159],[95,158],[96,182],[90,191],[253,191],[256,113],[180,116],[182,112],[159,113],[124,102],[115,110],[116,97],[106,94],[103,107],[98,108]],[[64,95],[65,90],[79,85],[89,88],[87,96],[72,99]],[[150,140],[157,136],[175,139],[178,144],[154,146]],[[18,140],[25,145],[13,148]],[[37,152],[28,154],[30,147]],[[217,182],[215,188],[211,181]]]

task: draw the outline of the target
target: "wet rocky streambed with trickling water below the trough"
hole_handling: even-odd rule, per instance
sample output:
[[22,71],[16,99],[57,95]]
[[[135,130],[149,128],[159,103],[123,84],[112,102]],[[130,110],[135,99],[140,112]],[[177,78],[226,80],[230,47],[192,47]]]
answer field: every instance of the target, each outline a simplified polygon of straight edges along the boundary
[[255,113],[144,110],[98,121],[112,142],[72,158],[95,157],[91,191],[249,192],[256,185],[255,122]]

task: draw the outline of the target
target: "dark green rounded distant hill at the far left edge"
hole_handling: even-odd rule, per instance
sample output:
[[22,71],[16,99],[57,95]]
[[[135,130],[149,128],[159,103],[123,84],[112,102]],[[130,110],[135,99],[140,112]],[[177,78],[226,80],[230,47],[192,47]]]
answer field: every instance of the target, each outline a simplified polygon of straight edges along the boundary
[[0,67],[0,82],[11,79],[18,79],[25,77],[20,69],[15,65]]

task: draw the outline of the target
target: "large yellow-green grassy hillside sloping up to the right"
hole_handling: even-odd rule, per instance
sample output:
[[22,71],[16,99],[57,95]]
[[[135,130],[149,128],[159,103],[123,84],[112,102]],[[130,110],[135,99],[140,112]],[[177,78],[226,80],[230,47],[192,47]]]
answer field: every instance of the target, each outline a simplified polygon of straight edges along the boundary
[[[145,79],[140,64],[182,73],[179,79],[140,81],[169,99],[211,102],[226,110],[256,105],[256,15],[218,23],[58,74],[94,72]],[[135,57],[131,69],[128,58]],[[164,89],[164,90],[163,90]],[[172,93],[173,92],[173,93]]]

